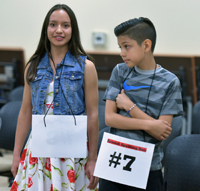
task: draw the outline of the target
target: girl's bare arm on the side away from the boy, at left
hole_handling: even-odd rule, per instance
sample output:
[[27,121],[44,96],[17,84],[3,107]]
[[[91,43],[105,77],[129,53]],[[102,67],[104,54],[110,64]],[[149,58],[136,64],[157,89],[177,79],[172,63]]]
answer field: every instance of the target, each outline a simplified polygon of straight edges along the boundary
[[11,172],[15,177],[17,174],[19,162],[20,162],[20,154],[26,139],[26,136],[29,132],[32,120],[32,103],[31,103],[31,89],[28,83],[26,82],[26,72],[24,74],[24,93],[22,106],[19,112],[18,121],[17,121],[17,129],[15,134],[15,146],[13,151],[13,164],[11,168]]

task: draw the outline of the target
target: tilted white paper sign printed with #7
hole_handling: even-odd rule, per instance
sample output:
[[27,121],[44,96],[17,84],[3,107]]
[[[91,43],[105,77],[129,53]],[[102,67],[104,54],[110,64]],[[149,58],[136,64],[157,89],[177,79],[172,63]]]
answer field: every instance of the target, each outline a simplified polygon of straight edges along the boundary
[[104,133],[94,176],[146,189],[154,146]]

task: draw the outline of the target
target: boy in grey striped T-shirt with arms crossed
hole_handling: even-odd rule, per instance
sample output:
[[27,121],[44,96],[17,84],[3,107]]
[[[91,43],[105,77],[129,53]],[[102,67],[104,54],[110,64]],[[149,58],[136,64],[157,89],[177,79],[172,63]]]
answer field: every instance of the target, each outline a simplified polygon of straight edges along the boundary
[[[114,32],[124,63],[113,69],[104,95],[106,125],[112,134],[155,144],[146,190],[161,191],[162,140],[171,133],[173,117],[183,110],[180,83],[154,60],[156,30],[149,19],[128,20]],[[101,179],[99,190],[142,189]]]

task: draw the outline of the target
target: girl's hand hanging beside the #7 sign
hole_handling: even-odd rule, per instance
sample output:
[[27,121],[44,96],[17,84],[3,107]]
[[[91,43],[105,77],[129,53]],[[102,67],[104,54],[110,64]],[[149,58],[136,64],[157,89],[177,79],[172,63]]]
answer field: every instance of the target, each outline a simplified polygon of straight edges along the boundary
[[86,166],[86,172],[85,172],[88,179],[90,180],[88,188],[91,189],[91,190],[95,189],[98,182],[99,182],[99,178],[93,176],[95,164],[96,164],[95,161],[88,160],[87,166]]

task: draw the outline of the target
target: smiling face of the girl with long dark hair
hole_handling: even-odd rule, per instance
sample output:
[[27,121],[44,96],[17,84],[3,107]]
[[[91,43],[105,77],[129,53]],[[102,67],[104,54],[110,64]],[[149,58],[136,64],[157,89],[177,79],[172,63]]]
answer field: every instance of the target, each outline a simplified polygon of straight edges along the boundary
[[50,18],[47,28],[47,36],[51,48],[66,48],[72,36],[71,20],[63,9],[54,11]]

